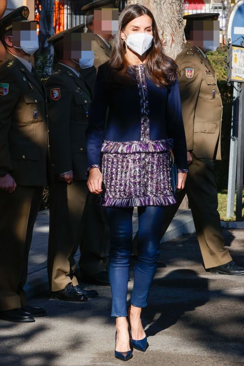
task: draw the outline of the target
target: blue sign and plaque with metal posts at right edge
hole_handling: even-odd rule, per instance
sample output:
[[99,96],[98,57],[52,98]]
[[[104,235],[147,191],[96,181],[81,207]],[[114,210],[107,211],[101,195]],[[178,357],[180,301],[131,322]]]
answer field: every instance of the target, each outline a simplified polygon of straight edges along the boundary
[[[227,35],[229,48],[227,79],[228,82],[233,81],[234,95],[226,216],[232,216],[234,213],[236,190],[236,220],[242,221],[244,173],[244,0],[239,1],[232,10]],[[236,110],[237,105],[239,106],[238,113]],[[238,124],[235,121],[236,115],[238,115]]]

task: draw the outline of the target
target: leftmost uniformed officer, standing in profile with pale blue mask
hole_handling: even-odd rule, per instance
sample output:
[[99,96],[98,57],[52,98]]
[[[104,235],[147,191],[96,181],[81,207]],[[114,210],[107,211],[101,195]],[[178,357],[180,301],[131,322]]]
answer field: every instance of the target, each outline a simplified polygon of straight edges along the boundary
[[23,290],[49,167],[45,89],[30,63],[38,48],[37,32],[30,31],[35,41],[26,41],[33,38],[21,31],[19,40],[12,37],[12,23],[27,29],[28,15],[29,9],[21,6],[0,20],[6,50],[0,65],[0,319],[11,322],[34,322],[46,315],[27,305]]

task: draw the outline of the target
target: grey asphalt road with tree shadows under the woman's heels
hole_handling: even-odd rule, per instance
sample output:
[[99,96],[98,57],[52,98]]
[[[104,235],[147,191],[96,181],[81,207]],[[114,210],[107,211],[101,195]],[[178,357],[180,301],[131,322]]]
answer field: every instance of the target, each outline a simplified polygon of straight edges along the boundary
[[[225,229],[224,236],[244,266],[244,230]],[[162,244],[161,260],[166,268],[157,269],[142,315],[149,348],[134,350],[127,365],[244,366],[244,276],[205,272],[195,234]],[[81,304],[47,294],[31,299],[48,311],[35,323],[0,321],[0,365],[122,365],[114,358],[110,288],[93,288],[100,296]]]

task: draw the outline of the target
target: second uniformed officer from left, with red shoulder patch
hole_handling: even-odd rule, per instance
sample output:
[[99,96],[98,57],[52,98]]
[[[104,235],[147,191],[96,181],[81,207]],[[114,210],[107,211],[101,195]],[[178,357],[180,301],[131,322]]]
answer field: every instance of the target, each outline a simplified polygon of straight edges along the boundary
[[[84,27],[84,24],[78,25],[48,40],[53,44],[59,62],[45,84],[55,177],[54,186],[49,190],[48,277],[51,298],[68,301],[86,301],[87,297],[98,295],[95,290],[82,289],[74,274],[74,255],[82,242],[86,226],[83,215],[88,192],[85,130],[92,91],[80,75],[84,66],[81,50],[74,49],[75,45],[72,44],[75,43],[70,39],[69,52],[65,49],[69,45],[66,45],[64,38],[72,37],[74,33],[81,36]],[[81,57],[73,59],[72,52],[78,55],[79,51]],[[86,205],[89,206],[89,202]]]

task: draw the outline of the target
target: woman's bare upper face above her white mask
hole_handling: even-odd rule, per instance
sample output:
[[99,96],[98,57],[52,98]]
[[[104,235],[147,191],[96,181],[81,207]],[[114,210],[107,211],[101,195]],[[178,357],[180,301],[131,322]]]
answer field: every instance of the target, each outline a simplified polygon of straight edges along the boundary
[[132,33],[147,33],[153,36],[152,20],[148,15],[131,20],[121,32],[121,38],[126,40],[127,36]]

